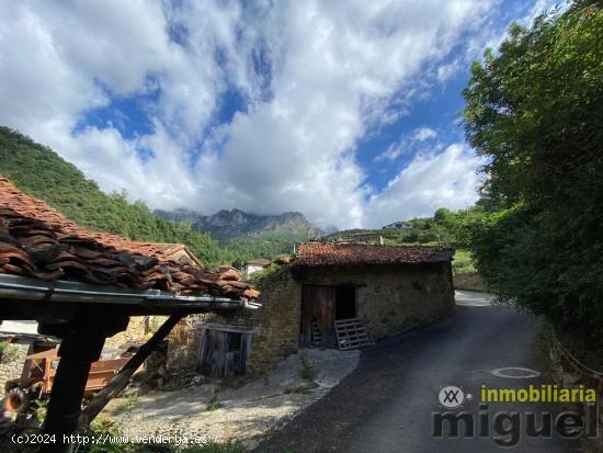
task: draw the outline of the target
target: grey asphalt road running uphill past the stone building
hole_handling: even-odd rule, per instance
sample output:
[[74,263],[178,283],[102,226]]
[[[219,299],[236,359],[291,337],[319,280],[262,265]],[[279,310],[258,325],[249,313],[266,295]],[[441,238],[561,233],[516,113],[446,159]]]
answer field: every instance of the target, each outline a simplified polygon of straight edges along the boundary
[[[414,329],[365,349],[359,367],[325,398],[308,407],[280,432],[262,442],[257,452],[369,452],[428,453],[499,451],[570,453],[579,451],[578,440],[530,438],[525,414],[543,411],[555,417],[559,405],[533,403],[490,404],[490,423],[480,423],[479,389],[522,388],[551,381],[536,347],[537,321],[512,308],[491,306],[479,293],[457,293],[457,313],[437,325]],[[526,367],[543,372],[538,377],[499,377],[492,371]],[[511,373],[512,374],[512,373]],[[433,415],[443,412],[439,400],[442,387],[454,385],[473,394],[473,400],[452,410],[467,411],[476,421],[491,427],[483,439],[435,439]],[[521,439],[502,448],[492,438],[494,415],[520,412]],[[485,411],[482,410],[482,414]],[[516,423],[515,426],[519,426]],[[503,428],[507,427],[503,426]],[[447,429],[444,429],[446,432]],[[462,429],[463,431],[463,429]],[[503,434],[502,431],[499,431]],[[503,435],[509,440],[510,435]]]

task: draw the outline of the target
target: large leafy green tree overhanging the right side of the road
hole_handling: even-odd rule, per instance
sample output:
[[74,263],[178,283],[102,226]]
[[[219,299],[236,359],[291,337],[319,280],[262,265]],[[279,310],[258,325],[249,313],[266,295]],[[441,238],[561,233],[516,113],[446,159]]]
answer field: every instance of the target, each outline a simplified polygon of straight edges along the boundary
[[467,224],[477,267],[503,296],[601,348],[601,3],[512,25],[471,71],[466,135],[488,161],[482,215]]

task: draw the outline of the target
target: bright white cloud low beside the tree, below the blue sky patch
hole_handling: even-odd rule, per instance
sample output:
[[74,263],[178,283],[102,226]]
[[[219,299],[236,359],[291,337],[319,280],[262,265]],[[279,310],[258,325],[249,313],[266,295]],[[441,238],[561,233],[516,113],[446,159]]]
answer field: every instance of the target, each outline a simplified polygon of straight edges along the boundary
[[419,154],[368,203],[365,224],[379,227],[413,216],[432,215],[439,207],[462,208],[476,202],[483,160],[464,144],[441,154]]

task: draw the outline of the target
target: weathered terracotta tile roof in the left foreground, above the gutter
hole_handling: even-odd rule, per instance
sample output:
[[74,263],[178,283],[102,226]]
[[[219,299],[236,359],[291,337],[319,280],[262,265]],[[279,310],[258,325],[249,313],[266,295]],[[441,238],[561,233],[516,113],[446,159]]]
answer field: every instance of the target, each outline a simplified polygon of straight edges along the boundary
[[205,270],[183,245],[132,241],[80,228],[1,175],[0,273],[183,295],[259,296],[232,269]]

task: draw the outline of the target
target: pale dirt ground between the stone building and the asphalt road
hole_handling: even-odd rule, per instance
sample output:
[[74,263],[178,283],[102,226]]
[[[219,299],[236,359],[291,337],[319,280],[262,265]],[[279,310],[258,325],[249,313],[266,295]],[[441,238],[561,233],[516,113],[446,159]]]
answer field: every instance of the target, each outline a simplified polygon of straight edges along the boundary
[[[219,381],[112,401],[124,434],[198,435],[254,448],[269,431],[327,395],[357,365],[360,351],[305,350],[239,388]],[[201,380],[200,380],[201,381]]]

